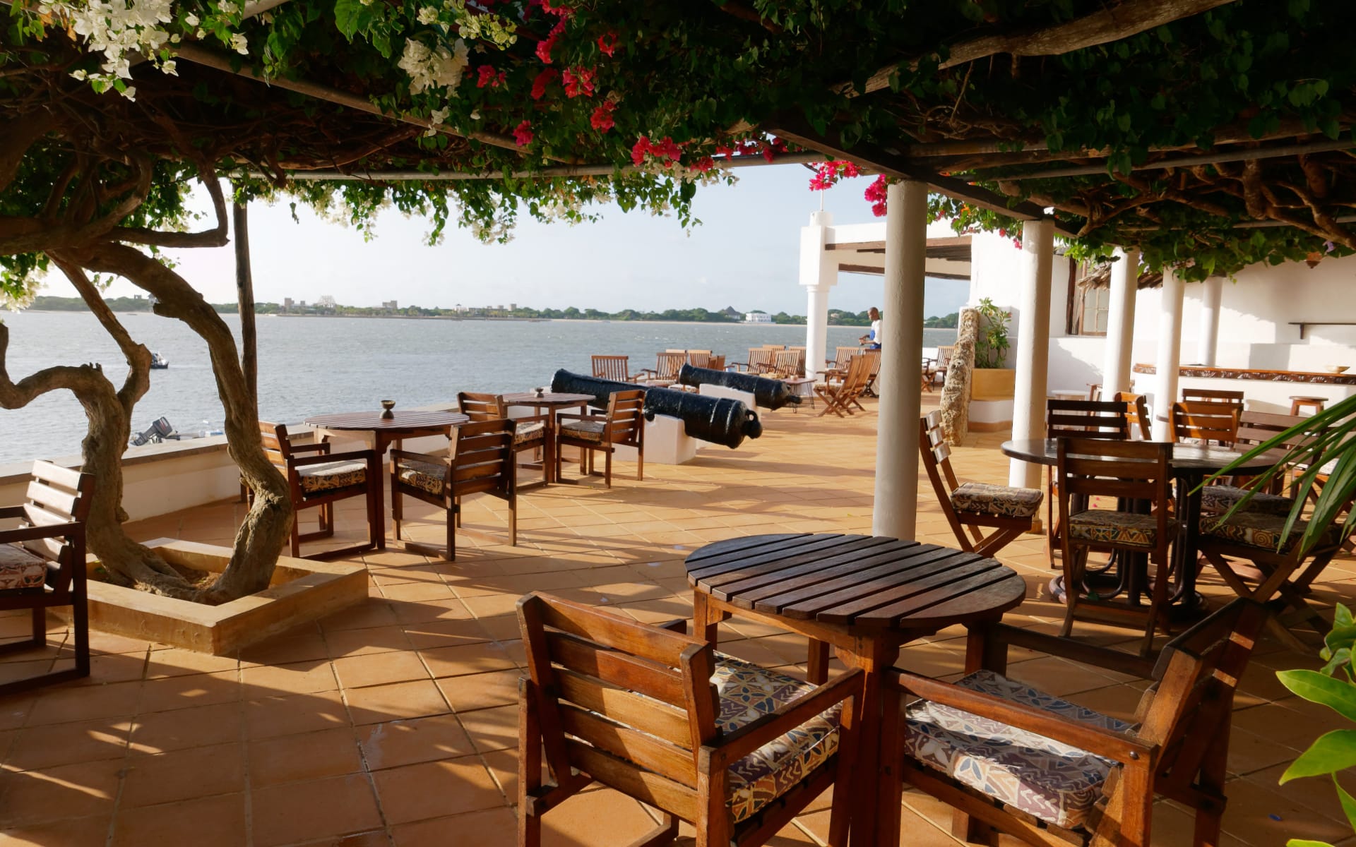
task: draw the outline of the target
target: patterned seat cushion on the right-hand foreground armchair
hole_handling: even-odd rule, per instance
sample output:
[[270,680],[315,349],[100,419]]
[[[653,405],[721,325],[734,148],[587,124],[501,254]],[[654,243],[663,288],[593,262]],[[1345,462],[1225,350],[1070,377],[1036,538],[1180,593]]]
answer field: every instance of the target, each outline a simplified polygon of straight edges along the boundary
[[[978,671],[956,683],[1005,701],[1113,732],[1130,724]],[[904,751],[925,767],[1058,827],[1086,820],[1115,762],[1054,739],[952,706],[917,701],[907,709]]]

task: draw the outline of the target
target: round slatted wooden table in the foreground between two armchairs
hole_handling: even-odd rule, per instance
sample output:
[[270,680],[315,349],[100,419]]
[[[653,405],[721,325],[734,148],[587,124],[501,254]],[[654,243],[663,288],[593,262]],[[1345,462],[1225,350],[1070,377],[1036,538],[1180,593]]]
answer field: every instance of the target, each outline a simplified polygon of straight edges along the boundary
[[980,669],[989,625],[1022,602],[1026,583],[975,553],[871,535],[731,538],[694,552],[686,568],[693,632],[711,644],[720,622],[739,614],[808,637],[814,683],[827,679],[830,645],[865,671],[852,843],[899,844],[903,783],[896,763],[881,759],[900,732],[899,709],[881,675],[902,645],[956,623],[970,630],[965,669]]

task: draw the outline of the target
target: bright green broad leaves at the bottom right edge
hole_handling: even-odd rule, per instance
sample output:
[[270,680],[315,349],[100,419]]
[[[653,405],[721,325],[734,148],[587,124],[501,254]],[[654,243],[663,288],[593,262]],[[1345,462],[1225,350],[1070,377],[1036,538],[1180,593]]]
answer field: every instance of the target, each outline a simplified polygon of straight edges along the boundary
[[[1348,721],[1356,721],[1356,671],[1352,667],[1356,648],[1356,618],[1338,603],[1333,611],[1333,629],[1323,638],[1319,656],[1328,663],[1322,671],[1279,671],[1281,684],[1298,697],[1328,706]],[[1347,821],[1356,829],[1356,798],[1337,782],[1337,774],[1356,766],[1356,729],[1323,733],[1281,774],[1281,785],[1304,777],[1329,777]],[[1323,842],[1291,839],[1287,847],[1330,847]]]

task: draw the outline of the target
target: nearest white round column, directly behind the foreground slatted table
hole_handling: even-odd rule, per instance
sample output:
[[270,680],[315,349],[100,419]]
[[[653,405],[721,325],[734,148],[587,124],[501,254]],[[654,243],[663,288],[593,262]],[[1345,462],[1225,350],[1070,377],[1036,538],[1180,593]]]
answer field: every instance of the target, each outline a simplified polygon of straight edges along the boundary
[[918,526],[918,374],[923,358],[923,264],[928,186],[890,186],[885,291],[880,318],[880,404],[876,419],[876,500],[871,531],[913,538]]

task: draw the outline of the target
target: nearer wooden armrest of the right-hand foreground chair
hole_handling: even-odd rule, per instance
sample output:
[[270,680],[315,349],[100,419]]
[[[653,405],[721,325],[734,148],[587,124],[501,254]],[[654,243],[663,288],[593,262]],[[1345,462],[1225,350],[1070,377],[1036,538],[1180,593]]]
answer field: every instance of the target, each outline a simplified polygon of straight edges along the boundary
[[1081,724],[1036,709],[1035,706],[1014,703],[993,694],[971,691],[970,688],[961,688],[952,683],[919,676],[898,668],[891,668],[885,674],[885,684],[899,686],[904,691],[917,694],[923,699],[974,714],[982,714],[986,718],[1008,724],[1014,729],[1024,729],[1045,736],[1047,739],[1063,741],[1064,744],[1071,744],[1073,747],[1115,759],[1116,762],[1124,763],[1131,759],[1151,762],[1151,758],[1158,753],[1157,745],[1144,744],[1138,737],[1125,732],[1113,732],[1101,726],[1093,726],[1092,724]]

